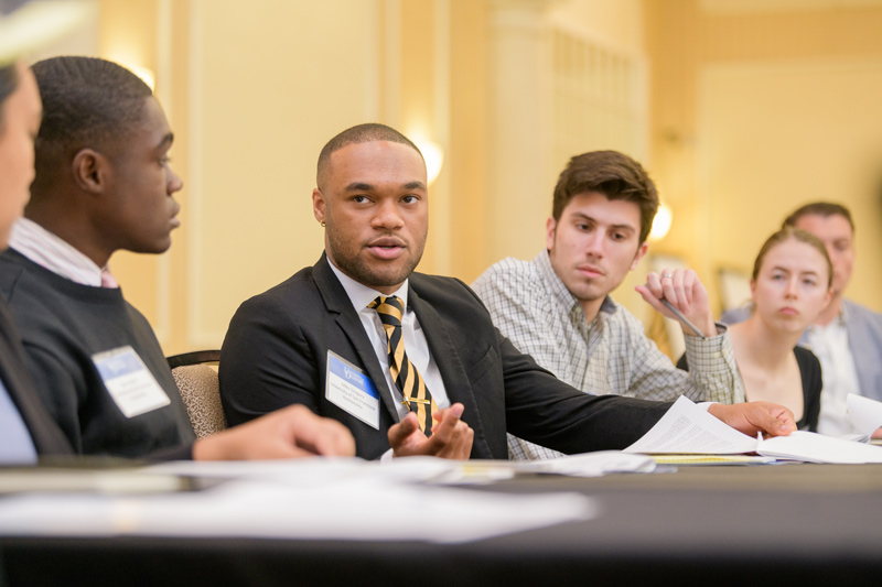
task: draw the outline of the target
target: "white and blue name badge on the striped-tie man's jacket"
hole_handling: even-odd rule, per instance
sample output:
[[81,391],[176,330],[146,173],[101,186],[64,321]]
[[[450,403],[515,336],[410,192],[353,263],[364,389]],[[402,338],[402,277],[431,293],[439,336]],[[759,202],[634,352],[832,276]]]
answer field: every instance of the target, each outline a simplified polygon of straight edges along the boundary
[[327,351],[324,396],[365,424],[379,430],[379,393],[367,373]]

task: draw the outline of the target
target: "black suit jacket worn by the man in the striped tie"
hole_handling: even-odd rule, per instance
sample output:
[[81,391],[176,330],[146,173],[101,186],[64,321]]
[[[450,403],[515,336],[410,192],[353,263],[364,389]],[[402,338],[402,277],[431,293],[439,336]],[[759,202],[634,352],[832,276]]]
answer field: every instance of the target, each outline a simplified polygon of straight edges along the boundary
[[[561,450],[624,448],[670,406],[582,393],[539,368],[493,326],[464,283],[413,273],[408,304],[416,312],[451,402],[475,432],[473,458],[507,458],[506,436]],[[379,430],[325,399],[327,351],[364,370],[379,391]],[[345,424],[361,457],[389,448],[398,420],[374,349],[325,256],[288,281],[245,302],[220,354],[220,396],[227,421],[239,424],[300,403]]]

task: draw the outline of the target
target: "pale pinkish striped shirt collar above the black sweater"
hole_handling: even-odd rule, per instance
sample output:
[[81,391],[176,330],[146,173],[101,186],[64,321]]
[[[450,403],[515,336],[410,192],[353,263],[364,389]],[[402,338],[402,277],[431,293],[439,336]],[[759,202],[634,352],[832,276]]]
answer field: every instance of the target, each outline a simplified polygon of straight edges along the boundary
[[53,273],[82,285],[118,287],[107,268],[99,268],[92,259],[69,243],[28,218],[12,225],[9,246]]

